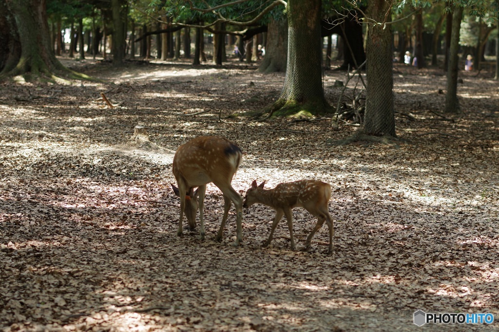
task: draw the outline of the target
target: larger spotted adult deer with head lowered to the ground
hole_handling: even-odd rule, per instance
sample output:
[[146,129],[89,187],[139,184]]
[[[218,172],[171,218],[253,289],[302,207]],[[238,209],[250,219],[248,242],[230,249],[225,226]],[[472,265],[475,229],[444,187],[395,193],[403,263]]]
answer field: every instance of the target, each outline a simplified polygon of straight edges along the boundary
[[[235,245],[239,245],[243,240],[243,198],[232,188],[231,182],[242,156],[241,149],[234,142],[221,136],[200,136],[179,146],[173,157],[173,174],[178,188],[172,184],[175,194],[180,197],[180,221],[177,235],[182,235],[184,213],[189,227],[196,228],[196,214],[199,210],[201,239],[205,238],[203,221],[205,191],[206,185],[213,182],[224,194],[224,217],[215,239],[222,240],[232,202],[237,212]],[[198,189],[194,191],[196,187]]]

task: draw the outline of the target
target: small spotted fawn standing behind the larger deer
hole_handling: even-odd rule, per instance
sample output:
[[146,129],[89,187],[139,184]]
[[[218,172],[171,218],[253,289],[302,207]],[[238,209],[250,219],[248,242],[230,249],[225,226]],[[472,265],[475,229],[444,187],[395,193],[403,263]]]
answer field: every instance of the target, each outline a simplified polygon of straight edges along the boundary
[[263,181],[256,186],[256,180],[251,184],[251,188],[246,193],[243,206],[248,208],[255,203],[264,204],[275,210],[275,218],[272,222],[272,229],[268,236],[265,246],[270,244],[275,226],[282,218],[286,216],[287,226],[289,228],[289,237],[291,240],[291,249],[295,250],[293,238],[293,214],[292,209],[303,207],[311,215],[317,218],[317,223],[307,237],[305,249],[308,249],[312,236],[315,234],[324,221],[329,228],[329,250],[333,251],[333,220],[329,215],[328,203],[331,198],[331,186],[328,183],[317,180],[299,180],[294,182],[279,183],[274,189],[265,190]]

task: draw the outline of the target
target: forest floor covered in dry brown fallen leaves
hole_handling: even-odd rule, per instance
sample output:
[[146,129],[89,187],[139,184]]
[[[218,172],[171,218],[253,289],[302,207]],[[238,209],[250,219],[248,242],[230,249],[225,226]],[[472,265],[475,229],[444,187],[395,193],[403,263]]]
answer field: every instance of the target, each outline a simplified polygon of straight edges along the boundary
[[[400,142],[335,146],[326,139],[356,128],[227,118],[276,100],[284,74],[255,64],[65,63],[106,81],[0,83],[1,331],[497,331],[498,322],[413,324],[417,310],[499,319],[490,73],[460,72],[463,113],[443,115],[442,70],[396,65]],[[332,105],[345,75],[324,74]],[[150,142],[132,139],[137,124]],[[177,236],[173,153],[200,135],[244,151],[232,182],[242,195],[254,179],[330,183],[334,253],[325,225],[308,252],[291,251],[285,221],[262,247],[274,213],[261,205],[244,211],[241,246],[234,210],[214,241],[224,201],[213,185],[206,240],[186,222]],[[315,220],[303,209],[293,218],[299,249]]]

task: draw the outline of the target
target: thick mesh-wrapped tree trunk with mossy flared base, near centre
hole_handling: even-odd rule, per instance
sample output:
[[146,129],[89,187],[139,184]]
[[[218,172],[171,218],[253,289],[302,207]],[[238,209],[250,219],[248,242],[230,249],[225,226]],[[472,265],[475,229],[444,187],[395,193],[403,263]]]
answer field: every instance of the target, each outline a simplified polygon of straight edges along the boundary
[[275,115],[332,111],[322,87],[321,0],[289,0],[287,16],[286,77],[271,111]]

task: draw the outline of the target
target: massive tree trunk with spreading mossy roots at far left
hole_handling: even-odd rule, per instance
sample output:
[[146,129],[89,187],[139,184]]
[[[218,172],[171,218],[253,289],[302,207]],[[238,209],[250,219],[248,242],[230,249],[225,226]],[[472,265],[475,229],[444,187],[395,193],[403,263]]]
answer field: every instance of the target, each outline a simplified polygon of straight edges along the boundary
[[46,0],[0,1],[0,77],[54,74],[81,78],[55,58],[50,45]]

